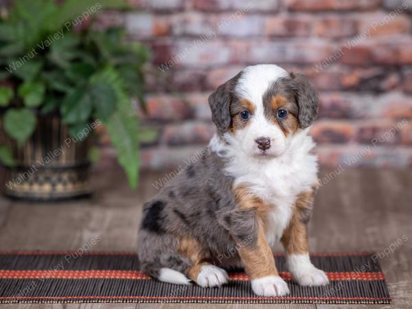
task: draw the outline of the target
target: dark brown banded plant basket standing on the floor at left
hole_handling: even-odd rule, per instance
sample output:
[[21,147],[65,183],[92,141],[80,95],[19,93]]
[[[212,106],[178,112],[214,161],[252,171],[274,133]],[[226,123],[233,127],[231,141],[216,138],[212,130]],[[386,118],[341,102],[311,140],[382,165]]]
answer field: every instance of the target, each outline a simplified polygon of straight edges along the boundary
[[58,115],[38,115],[36,130],[23,146],[1,135],[16,163],[14,168],[5,168],[5,195],[57,201],[91,193],[87,157],[91,137],[71,137]]

